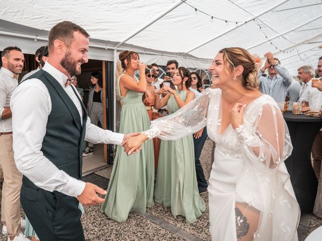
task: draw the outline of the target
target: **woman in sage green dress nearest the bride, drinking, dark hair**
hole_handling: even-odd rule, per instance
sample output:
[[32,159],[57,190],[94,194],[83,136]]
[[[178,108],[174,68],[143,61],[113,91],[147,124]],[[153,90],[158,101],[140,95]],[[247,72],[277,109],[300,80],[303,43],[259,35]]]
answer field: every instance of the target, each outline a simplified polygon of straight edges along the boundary
[[[156,109],[168,104],[169,114],[195,97],[195,93],[189,90],[191,75],[186,68],[176,70],[173,83],[178,89],[164,85],[156,94],[168,94],[162,100],[156,98],[154,102]],[[161,141],[154,190],[155,202],[171,206],[172,215],[175,218],[177,215],[185,216],[187,223],[196,221],[206,210],[198,191],[192,134],[174,141]]]

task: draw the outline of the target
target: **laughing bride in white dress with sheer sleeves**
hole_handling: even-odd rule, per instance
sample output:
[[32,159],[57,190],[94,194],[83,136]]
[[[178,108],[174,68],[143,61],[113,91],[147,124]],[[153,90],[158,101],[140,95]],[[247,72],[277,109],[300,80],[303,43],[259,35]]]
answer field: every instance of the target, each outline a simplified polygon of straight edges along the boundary
[[284,164],[292,144],[276,102],[258,90],[259,67],[244,49],[220,50],[209,67],[218,88],[125,145],[131,154],[147,139],[174,140],[207,126],[216,142],[208,187],[215,241],[298,240],[300,210]]

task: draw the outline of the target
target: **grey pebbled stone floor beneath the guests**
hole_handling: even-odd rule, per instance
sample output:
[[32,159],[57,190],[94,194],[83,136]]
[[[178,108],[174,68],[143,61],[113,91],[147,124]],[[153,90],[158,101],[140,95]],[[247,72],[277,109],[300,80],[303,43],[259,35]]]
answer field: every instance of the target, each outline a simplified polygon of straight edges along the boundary
[[[207,140],[200,158],[207,179],[211,170],[211,146],[211,141]],[[98,185],[107,186],[104,181],[110,178],[111,171],[112,167],[108,167],[85,178],[97,181]],[[82,222],[86,240],[210,240],[208,193],[201,196],[207,203],[207,209],[192,224],[187,224],[181,216],[175,219],[170,208],[160,204],[147,208],[146,214],[130,213],[127,221],[123,223],[107,219],[106,215],[100,212],[100,206],[85,207]],[[303,214],[298,227],[299,240],[303,241],[308,233],[320,225],[321,218],[311,213]],[[0,241],[2,240],[7,240],[7,236],[0,235]]]

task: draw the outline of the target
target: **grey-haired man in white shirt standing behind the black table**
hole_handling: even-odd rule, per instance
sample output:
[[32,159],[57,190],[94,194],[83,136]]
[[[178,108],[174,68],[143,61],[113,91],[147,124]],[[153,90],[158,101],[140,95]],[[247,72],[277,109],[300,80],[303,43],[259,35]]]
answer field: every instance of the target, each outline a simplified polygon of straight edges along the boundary
[[318,95],[317,88],[312,87],[311,78],[314,74],[314,69],[310,65],[303,65],[297,69],[297,77],[302,82],[298,101],[304,101],[303,111],[318,109]]

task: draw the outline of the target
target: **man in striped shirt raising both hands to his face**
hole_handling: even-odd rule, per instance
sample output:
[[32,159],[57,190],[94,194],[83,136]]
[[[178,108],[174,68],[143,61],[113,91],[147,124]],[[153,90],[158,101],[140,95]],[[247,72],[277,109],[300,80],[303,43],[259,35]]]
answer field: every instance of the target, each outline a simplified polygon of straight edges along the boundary
[[[258,72],[259,87],[262,93],[270,95],[277,103],[284,102],[286,91],[293,79],[289,72],[283,68],[278,58],[274,58],[271,52],[264,54],[266,62]],[[262,76],[265,70],[268,76]]]

